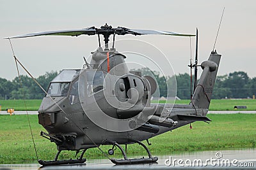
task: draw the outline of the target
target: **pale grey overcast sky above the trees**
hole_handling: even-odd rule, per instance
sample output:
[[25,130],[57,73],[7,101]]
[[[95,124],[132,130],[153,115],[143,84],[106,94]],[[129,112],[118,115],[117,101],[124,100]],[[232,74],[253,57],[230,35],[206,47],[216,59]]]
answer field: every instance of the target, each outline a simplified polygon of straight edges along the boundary
[[[222,55],[218,75],[245,71],[256,76],[256,1],[3,1],[0,0],[0,77],[17,76],[9,41],[31,32],[100,27],[154,29],[195,34],[199,30],[199,63],[209,57],[225,6],[216,50]],[[173,71],[189,73],[189,38],[118,36],[139,39],[161,50]],[[195,38],[191,38],[195,56]],[[12,40],[17,58],[37,77],[46,71],[80,68],[83,56],[97,48],[97,36],[39,36]],[[118,49],[117,49],[118,50]],[[158,61],[161,62],[161,61]],[[165,68],[163,68],[165,69]]]

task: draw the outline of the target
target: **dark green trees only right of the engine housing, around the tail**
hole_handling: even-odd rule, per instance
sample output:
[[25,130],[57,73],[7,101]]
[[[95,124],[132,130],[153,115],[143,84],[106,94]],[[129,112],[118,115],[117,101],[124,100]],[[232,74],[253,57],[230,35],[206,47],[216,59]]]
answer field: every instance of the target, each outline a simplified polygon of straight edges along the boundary
[[[143,75],[147,75],[149,70],[140,69]],[[177,74],[172,77],[160,76],[156,71],[151,71],[159,84],[159,96],[175,96],[175,80],[177,83],[176,96],[180,99],[190,99],[191,89],[193,93],[194,75],[188,73]],[[175,91],[173,91],[175,90]],[[244,71],[234,71],[233,73],[217,76],[212,92],[212,99],[225,99],[225,98],[252,98],[256,95],[256,77],[249,78],[248,74]]]

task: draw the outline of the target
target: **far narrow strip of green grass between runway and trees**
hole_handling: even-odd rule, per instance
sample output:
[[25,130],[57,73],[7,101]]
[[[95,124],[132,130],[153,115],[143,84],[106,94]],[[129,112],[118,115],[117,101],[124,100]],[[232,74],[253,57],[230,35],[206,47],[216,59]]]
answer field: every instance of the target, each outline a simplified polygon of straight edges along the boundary
[[[42,100],[26,100],[26,106],[28,110],[36,111],[38,110]],[[157,101],[152,101],[156,103]],[[165,101],[160,101],[164,103]],[[171,103],[168,101],[167,103]],[[175,101],[176,104],[189,104],[189,100]],[[26,110],[23,100],[0,100],[0,105],[2,106],[2,111],[6,111],[6,108],[14,108],[18,110]],[[247,109],[243,110],[256,110],[256,100],[253,99],[212,99],[209,110],[234,110],[234,106],[247,106]]]

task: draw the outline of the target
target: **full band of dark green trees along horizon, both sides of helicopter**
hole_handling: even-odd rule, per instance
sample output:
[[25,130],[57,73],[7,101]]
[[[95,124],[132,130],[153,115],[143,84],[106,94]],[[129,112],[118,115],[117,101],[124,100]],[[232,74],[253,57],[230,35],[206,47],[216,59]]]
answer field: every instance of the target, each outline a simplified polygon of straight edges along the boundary
[[[157,71],[147,69],[140,70],[142,75],[152,75],[156,78],[159,85],[159,96],[166,97],[167,94],[175,96],[177,81],[177,96],[180,99],[190,98],[191,76],[188,73],[177,74],[170,77],[160,76]],[[57,76],[57,71],[47,72],[36,78],[36,81],[46,90],[50,81]],[[22,87],[20,87],[20,80]],[[45,96],[44,92],[35,81],[26,76],[21,75],[15,77],[12,81],[0,78],[0,99],[42,99]],[[167,90],[168,89],[168,90]],[[193,88],[192,88],[193,89]],[[217,76],[214,90],[212,93],[213,99],[223,98],[247,98],[256,94],[256,77],[249,78],[248,74],[243,71],[235,71],[233,73]]]

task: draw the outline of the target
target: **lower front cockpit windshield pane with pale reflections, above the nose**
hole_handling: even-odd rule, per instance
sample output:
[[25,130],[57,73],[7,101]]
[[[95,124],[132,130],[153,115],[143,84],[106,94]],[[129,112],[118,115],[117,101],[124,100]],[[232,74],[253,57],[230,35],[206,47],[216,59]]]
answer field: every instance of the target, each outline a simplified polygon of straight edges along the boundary
[[70,83],[69,82],[61,82],[61,83],[51,83],[49,89],[47,90],[47,97],[61,97],[67,96],[68,89]]

